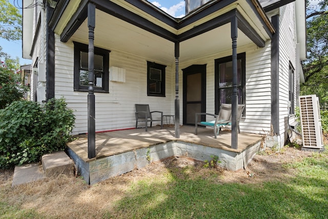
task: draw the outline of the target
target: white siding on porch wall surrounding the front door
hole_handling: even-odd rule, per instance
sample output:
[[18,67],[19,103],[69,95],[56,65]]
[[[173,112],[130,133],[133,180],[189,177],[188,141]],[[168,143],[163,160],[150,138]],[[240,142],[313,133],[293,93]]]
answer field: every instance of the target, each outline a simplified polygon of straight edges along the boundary
[[[238,42],[238,39],[237,39]],[[238,48],[238,53],[246,52],[246,116],[240,122],[242,132],[269,133],[271,129],[271,43],[264,48],[253,45]],[[215,69],[214,59],[231,55],[231,51],[218,52],[194,61],[180,63],[180,116],[182,118],[182,70],[191,65],[207,64],[206,111],[215,109]],[[182,119],[180,119],[181,121]]]

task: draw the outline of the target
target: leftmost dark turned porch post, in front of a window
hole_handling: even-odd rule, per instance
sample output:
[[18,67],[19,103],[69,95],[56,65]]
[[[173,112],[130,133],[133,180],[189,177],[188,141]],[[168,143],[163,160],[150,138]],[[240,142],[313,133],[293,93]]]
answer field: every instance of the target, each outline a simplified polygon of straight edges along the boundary
[[96,6],[88,4],[88,28],[89,28],[89,47],[88,47],[88,158],[96,156],[96,128],[95,128],[95,96],[94,96],[94,28],[96,21]]

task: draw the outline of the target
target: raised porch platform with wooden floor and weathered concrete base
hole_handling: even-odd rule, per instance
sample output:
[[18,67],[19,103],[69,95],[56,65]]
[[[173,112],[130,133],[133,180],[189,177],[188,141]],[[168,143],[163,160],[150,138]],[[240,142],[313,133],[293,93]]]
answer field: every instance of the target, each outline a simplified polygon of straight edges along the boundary
[[262,143],[262,135],[238,134],[238,149],[231,147],[231,132],[221,131],[217,139],[213,130],[181,126],[180,137],[175,137],[174,127],[160,126],[96,133],[96,156],[88,158],[88,135],[77,135],[68,144],[77,171],[88,184],[142,168],[151,162],[168,157],[185,156],[198,161],[212,160],[218,156],[218,165],[239,170],[247,166]]

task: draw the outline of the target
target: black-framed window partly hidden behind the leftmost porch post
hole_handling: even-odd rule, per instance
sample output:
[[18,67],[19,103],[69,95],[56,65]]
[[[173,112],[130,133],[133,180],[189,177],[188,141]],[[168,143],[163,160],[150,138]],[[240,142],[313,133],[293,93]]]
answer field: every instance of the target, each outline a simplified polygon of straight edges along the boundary
[[[109,50],[94,48],[94,91],[108,92]],[[74,90],[88,91],[88,45],[74,42]]]

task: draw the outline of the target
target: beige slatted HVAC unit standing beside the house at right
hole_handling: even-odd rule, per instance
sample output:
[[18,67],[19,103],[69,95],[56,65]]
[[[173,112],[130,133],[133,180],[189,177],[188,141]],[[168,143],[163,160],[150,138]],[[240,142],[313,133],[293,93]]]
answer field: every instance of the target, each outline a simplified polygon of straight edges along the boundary
[[316,95],[299,96],[303,147],[323,149],[319,99]]

